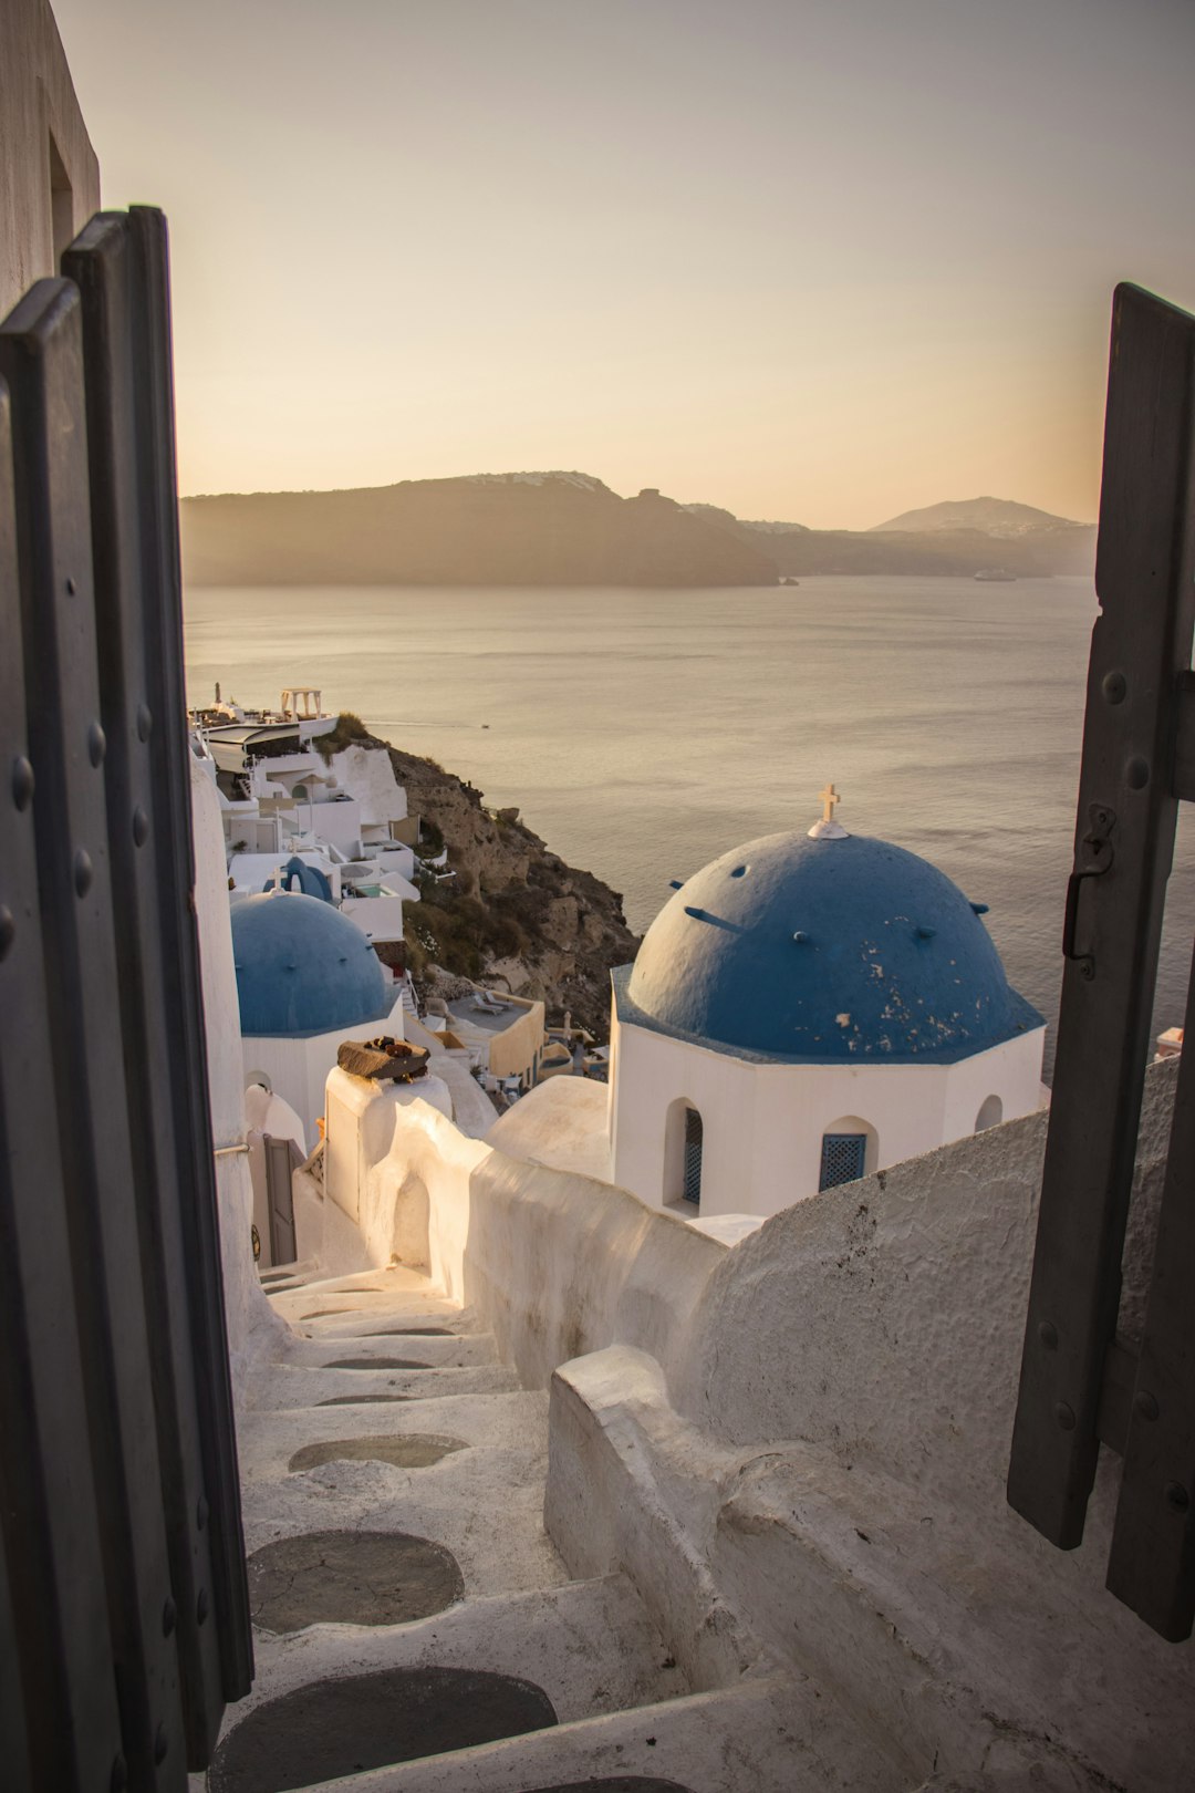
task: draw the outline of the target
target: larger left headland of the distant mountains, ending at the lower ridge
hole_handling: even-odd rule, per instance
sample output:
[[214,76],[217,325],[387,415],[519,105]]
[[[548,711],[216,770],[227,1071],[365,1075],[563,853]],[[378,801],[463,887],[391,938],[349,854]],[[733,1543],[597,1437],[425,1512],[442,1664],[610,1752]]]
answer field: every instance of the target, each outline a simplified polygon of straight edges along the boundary
[[[192,585],[776,585],[761,538],[589,473],[183,498]],[[729,513],[726,513],[729,516]],[[731,518],[733,522],[733,518]]]

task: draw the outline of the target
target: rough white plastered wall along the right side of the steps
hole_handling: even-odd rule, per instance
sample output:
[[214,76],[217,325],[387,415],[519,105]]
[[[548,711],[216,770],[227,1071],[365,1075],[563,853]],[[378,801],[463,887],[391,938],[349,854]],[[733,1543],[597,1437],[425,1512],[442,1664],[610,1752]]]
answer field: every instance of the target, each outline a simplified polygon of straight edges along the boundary
[[[1174,1069],[1147,1085],[1127,1338]],[[889,1755],[885,1786],[1195,1782],[1195,1650],[1104,1587],[1116,1461],[1079,1551],[1005,1501],[1045,1113],[727,1250],[419,1099],[335,1072],[328,1110],[369,1262],[425,1262],[550,1381],[548,1533],[573,1574],[632,1576],[695,1685],[812,1673]]]

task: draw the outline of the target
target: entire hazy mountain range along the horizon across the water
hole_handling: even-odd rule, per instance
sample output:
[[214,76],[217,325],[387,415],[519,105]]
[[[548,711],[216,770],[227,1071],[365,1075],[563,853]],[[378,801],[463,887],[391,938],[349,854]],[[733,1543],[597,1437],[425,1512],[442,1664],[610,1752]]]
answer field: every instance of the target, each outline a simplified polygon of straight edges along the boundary
[[353,491],[183,498],[192,585],[747,586],[803,574],[1091,574],[1095,525],[1007,498],[878,529],[745,522],[591,473],[477,473]]

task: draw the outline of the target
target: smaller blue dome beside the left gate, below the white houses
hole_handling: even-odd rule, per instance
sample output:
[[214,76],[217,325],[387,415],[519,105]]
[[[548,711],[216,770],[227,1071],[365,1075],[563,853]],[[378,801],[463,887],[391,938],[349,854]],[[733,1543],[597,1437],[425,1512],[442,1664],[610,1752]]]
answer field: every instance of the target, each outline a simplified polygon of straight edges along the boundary
[[382,963],[346,914],[297,891],[233,904],[240,1031],[331,1033],[391,1011]]

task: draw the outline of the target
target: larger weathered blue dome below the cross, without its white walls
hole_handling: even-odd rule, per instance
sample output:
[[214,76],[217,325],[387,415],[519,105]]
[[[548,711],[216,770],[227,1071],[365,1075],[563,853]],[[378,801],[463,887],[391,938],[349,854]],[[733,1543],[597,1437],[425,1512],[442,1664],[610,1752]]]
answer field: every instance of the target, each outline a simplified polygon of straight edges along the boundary
[[697,871],[616,974],[623,1020],[747,1058],[950,1063],[1045,1026],[951,880],[860,836]]

